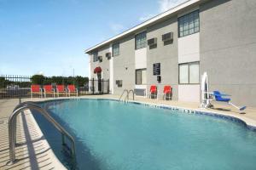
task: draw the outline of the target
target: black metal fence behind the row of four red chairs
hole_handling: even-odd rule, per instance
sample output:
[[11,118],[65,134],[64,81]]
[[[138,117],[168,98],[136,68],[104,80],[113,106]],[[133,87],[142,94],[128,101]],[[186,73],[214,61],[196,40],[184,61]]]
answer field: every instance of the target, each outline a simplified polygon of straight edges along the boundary
[[[36,83],[35,83],[36,82]],[[44,85],[74,84],[78,88],[79,95],[87,94],[109,94],[109,80],[89,80],[81,77],[41,77],[35,79],[30,76],[0,76],[0,99],[15,99],[31,97],[31,85],[39,84],[42,89]]]

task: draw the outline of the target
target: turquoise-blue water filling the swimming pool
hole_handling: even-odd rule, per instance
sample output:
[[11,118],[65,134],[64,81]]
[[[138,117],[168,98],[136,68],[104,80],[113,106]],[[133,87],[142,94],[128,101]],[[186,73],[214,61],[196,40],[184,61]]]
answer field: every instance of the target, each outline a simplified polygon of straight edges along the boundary
[[256,169],[256,133],[241,122],[113,100],[42,105],[76,140],[74,166],[61,152],[60,134],[34,114],[55,155],[70,169]]

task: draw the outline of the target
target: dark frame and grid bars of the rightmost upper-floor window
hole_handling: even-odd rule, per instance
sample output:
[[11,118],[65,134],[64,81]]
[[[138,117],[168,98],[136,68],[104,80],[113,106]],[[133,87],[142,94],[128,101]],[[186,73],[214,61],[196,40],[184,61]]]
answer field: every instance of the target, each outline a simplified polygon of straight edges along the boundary
[[[198,30],[197,30],[197,31],[194,31],[193,33],[189,33],[189,31],[191,30],[191,28],[189,28],[189,20],[188,20],[188,18],[189,18],[189,16],[190,16],[191,14],[194,14],[194,13],[197,13],[197,14],[198,14]],[[184,31],[188,31],[188,34],[186,34],[185,36],[184,36],[184,35],[181,36],[181,31],[180,31],[180,26],[181,26],[181,24],[180,24],[180,22],[181,22],[181,20],[184,20],[184,19],[186,19],[187,22],[188,22],[188,29],[184,30]],[[194,26],[195,26],[195,21],[193,22],[193,24],[194,24]],[[197,28],[197,26],[196,26],[196,27],[193,27],[194,30],[195,30],[195,28]],[[195,11],[192,11],[192,12],[190,12],[190,13],[188,13],[188,14],[183,14],[182,16],[178,17],[178,18],[177,18],[177,31],[178,31],[178,37],[186,37],[186,36],[189,36],[189,35],[192,35],[192,34],[195,34],[195,33],[200,32],[200,11],[199,11],[199,9],[196,9]]]

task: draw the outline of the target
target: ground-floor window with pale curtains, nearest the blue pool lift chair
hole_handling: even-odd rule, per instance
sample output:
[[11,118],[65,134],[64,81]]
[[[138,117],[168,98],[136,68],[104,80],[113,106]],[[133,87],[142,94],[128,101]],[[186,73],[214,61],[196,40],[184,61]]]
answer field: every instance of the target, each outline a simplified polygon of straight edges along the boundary
[[178,82],[180,84],[199,83],[199,62],[184,63],[178,65]]

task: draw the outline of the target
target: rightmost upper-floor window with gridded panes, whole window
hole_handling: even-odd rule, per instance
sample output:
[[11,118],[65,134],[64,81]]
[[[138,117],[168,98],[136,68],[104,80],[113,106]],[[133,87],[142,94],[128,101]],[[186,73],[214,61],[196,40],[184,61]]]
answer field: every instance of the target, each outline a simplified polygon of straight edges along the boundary
[[199,32],[199,10],[178,18],[178,37]]

